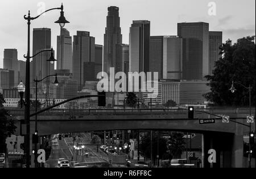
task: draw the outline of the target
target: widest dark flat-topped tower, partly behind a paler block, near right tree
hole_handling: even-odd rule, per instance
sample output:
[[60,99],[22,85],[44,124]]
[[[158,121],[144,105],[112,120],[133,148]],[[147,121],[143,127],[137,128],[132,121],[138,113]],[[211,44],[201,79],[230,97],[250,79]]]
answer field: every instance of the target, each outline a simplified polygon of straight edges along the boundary
[[183,80],[206,80],[209,75],[209,24],[178,23],[183,39]]

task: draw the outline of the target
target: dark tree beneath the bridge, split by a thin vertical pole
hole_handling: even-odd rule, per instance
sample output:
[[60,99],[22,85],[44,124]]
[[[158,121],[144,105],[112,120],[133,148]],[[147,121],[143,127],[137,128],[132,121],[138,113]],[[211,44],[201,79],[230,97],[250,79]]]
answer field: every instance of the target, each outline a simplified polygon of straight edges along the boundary
[[[159,135],[159,133],[158,133]],[[159,158],[162,159],[163,155],[166,154],[167,149],[167,139],[160,138],[158,141],[158,135],[152,135],[152,151],[153,151],[153,160],[156,159],[156,155],[158,154],[158,148],[159,148]],[[159,142],[159,147],[158,147]],[[147,159],[151,158],[151,140],[150,140],[150,133],[147,133],[144,135],[141,139],[141,145],[140,145],[140,152],[143,157],[146,157]]]

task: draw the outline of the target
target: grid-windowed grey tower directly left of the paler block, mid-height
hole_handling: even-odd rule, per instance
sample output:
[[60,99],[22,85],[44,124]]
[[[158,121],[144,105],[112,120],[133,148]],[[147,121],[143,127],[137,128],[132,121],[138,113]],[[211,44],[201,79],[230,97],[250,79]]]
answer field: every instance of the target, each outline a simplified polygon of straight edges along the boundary
[[150,71],[163,78],[163,36],[150,37]]

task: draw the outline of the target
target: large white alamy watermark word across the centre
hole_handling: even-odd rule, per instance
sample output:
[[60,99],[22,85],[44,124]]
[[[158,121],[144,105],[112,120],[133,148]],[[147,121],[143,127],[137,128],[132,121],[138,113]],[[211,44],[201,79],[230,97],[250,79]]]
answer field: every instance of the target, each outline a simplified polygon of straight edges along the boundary
[[123,72],[115,73],[112,67],[109,74],[98,73],[97,79],[100,79],[97,84],[99,92],[147,92],[148,98],[158,97],[158,72],[129,72],[126,76]]

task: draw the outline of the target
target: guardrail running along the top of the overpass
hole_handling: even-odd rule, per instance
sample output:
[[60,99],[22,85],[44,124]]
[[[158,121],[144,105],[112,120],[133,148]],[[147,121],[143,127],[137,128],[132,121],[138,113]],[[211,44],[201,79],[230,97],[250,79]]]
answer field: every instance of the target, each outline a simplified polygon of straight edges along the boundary
[[[31,111],[31,114],[35,111]],[[233,108],[233,109],[195,109],[195,114],[204,114],[204,112],[212,114],[249,114],[249,108]],[[251,108],[251,112],[255,115],[255,108]],[[24,110],[9,110],[12,116],[24,116]],[[39,114],[38,116],[88,116],[88,115],[172,115],[187,114],[187,109],[52,109]]]

